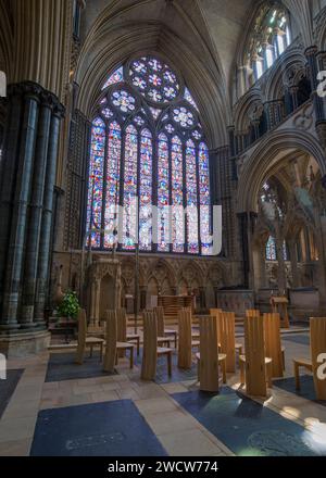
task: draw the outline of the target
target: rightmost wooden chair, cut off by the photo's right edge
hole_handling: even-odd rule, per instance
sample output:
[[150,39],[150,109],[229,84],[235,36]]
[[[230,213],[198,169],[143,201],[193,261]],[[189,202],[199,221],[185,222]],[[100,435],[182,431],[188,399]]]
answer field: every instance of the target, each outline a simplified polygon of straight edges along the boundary
[[310,319],[310,350],[311,360],[296,358],[294,377],[296,388],[300,390],[300,367],[304,367],[313,374],[315,392],[317,400],[326,400],[326,380],[318,379],[317,369],[322,365],[318,363],[318,355],[326,353],[326,318],[312,317]]

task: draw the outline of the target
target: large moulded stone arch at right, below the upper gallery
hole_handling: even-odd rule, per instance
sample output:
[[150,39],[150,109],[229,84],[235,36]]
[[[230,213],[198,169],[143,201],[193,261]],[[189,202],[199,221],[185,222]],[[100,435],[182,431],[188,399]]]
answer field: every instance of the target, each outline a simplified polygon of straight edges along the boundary
[[311,154],[318,163],[322,175],[325,175],[325,154],[314,136],[298,129],[272,133],[243,164],[238,186],[238,212],[258,211],[256,198],[264,178],[272,174],[286,154],[296,151]]

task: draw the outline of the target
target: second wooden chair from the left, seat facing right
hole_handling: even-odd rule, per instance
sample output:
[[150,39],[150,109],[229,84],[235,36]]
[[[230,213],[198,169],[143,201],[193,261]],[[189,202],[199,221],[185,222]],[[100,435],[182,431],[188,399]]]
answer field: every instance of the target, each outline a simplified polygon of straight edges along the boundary
[[134,348],[133,343],[117,341],[117,313],[116,311],[106,311],[106,347],[104,356],[104,372],[114,372],[117,364],[120,352],[129,351],[130,368],[134,368]]

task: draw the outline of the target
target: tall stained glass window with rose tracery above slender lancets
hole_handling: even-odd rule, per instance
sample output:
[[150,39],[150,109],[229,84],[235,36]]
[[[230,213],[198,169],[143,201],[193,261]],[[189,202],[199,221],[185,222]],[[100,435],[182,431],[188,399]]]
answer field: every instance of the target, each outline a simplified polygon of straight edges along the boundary
[[90,139],[87,246],[210,254],[209,149],[199,109],[165,61],[133,59],[103,84]]

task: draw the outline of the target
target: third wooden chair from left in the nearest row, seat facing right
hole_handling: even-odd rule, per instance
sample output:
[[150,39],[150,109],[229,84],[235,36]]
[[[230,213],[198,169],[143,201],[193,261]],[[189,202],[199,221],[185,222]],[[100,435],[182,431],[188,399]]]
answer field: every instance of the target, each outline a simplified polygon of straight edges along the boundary
[[153,380],[156,375],[158,356],[165,355],[167,373],[172,376],[172,353],[168,348],[158,347],[158,320],[153,312],[143,313],[143,354],[141,364],[141,379]]

